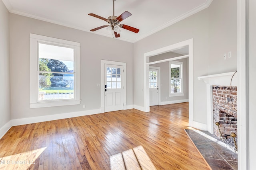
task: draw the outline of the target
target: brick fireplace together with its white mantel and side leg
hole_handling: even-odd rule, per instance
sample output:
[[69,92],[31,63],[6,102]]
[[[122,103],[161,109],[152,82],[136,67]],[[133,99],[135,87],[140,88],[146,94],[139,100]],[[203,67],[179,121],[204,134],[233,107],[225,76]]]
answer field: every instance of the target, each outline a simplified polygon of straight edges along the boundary
[[[234,75],[232,79],[231,97],[236,108],[237,74],[234,73],[235,72],[226,72],[198,77],[198,80],[203,80],[206,84],[207,124],[205,127],[202,126],[202,129],[205,129],[212,134],[214,133],[217,135],[214,129],[218,128],[215,125],[215,122],[218,121],[218,119],[220,122],[220,130],[223,131],[223,134],[226,133],[226,135],[230,135],[231,132],[237,134],[237,125],[232,124],[236,123],[237,120],[235,117],[237,117],[237,114],[236,111],[232,109],[233,106],[228,97],[230,80]],[[214,112],[216,112],[216,115],[214,115]]]

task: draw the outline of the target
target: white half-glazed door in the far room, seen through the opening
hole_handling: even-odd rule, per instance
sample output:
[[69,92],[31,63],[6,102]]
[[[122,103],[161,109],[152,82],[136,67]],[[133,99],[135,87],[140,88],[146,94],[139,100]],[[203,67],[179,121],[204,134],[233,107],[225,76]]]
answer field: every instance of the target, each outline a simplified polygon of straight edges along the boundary
[[149,106],[159,105],[158,69],[149,69]]

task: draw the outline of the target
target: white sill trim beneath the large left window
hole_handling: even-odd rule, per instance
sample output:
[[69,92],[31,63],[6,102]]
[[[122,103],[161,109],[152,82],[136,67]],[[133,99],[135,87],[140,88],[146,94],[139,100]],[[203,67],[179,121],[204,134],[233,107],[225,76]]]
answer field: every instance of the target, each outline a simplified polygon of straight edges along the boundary
[[38,102],[30,103],[30,109],[40,108],[40,107],[55,107],[55,106],[68,106],[80,104],[80,100],[69,100],[69,101],[54,101],[54,102]]

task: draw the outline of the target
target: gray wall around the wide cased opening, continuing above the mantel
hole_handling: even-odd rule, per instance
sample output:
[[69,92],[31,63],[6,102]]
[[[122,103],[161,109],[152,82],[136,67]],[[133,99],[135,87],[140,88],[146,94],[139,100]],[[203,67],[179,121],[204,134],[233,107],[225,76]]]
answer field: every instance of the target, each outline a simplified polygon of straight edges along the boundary
[[[216,13],[218,15],[214,15]],[[222,26],[223,23],[230,27]],[[216,33],[210,35],[213,32]],[[134,43],[134,73],[136,73],[134,105],[144,107],[144,53],[191,38],[194,47],[193,120],[207,123],[206,85],[197,77],[236,70],[236,1],[234,0],[214,0],[209,8]],[[225,43],[221,43],[223,39]],[[212,44],[214,47],[211,47]],[[230,62],[222,64],[223,54],[228,51],[232,51],[232,58],[227,59]]]

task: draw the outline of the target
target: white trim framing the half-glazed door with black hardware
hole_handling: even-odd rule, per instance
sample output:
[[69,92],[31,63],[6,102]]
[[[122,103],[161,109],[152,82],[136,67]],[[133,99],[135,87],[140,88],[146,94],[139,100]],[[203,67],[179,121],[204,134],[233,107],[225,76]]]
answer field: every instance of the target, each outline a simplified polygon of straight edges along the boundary
[[100,113],[105,112],[105,97],[104,97],[104,86],[105,86],[105,64],[112,64],[112,65],[120,65],[123,66],[123,102],[124,102],[124,110],[127,109],[126,105],[126,63],[118,62],[118,61],[108,61],[108,60],[101,60],[101,73],[100,73]]

